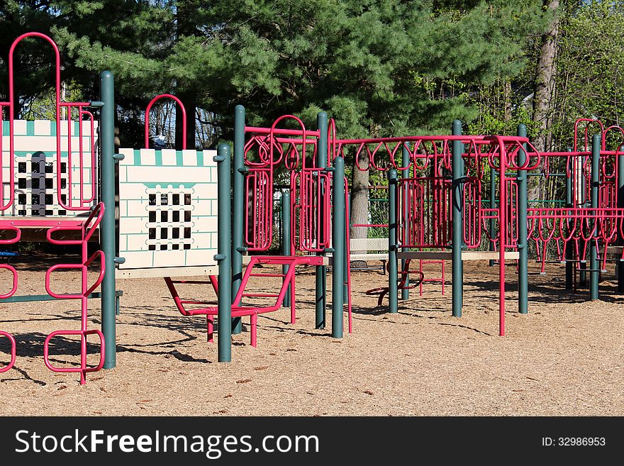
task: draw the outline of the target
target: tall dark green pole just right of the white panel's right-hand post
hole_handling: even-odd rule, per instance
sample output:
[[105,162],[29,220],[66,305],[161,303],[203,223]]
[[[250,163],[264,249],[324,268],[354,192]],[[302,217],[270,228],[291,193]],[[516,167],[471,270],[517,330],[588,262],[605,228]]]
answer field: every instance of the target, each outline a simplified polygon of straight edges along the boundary
[[[243,279],[243,213],[245,212],[245,107],[234,109],[234,172],[233,218],[232,218],[232,296],[236,296]],[[234,303],[235,305],[240,305]],[[232,333],[238,335],[243,330],[240,317],[232,320]]]

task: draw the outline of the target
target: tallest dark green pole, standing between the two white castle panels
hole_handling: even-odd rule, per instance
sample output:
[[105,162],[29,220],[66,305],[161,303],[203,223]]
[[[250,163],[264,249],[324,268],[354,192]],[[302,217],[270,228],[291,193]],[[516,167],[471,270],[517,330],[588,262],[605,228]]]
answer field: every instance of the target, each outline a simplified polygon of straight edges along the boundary
[[104,216],[101,221],[101,245],[104,252],[106,273],[102,281],[102,333],[104,334],[104,369],[117,365],[116,353],[116,296],[115,296],[115,84],[113,73],[100,74],[100,100],[104,103],[100,112],[101,144],[101,201]]

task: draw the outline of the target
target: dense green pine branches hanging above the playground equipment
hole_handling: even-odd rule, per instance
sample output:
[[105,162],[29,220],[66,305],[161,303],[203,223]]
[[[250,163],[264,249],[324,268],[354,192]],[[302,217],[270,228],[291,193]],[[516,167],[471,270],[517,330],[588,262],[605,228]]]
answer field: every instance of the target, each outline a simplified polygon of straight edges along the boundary
[[[29,2],[7,3],[30,21]],[[477,118],[476,92],[520,74],[545,23],[537,0],[52,4],[37,13],[64,74],[93,94],[111,70],[121,123],[155,94],[191,93],[225,139],[239,103],[252,125],[294,113],[314,126],[325,109],[343,137],[448,133],[453,119]]]

